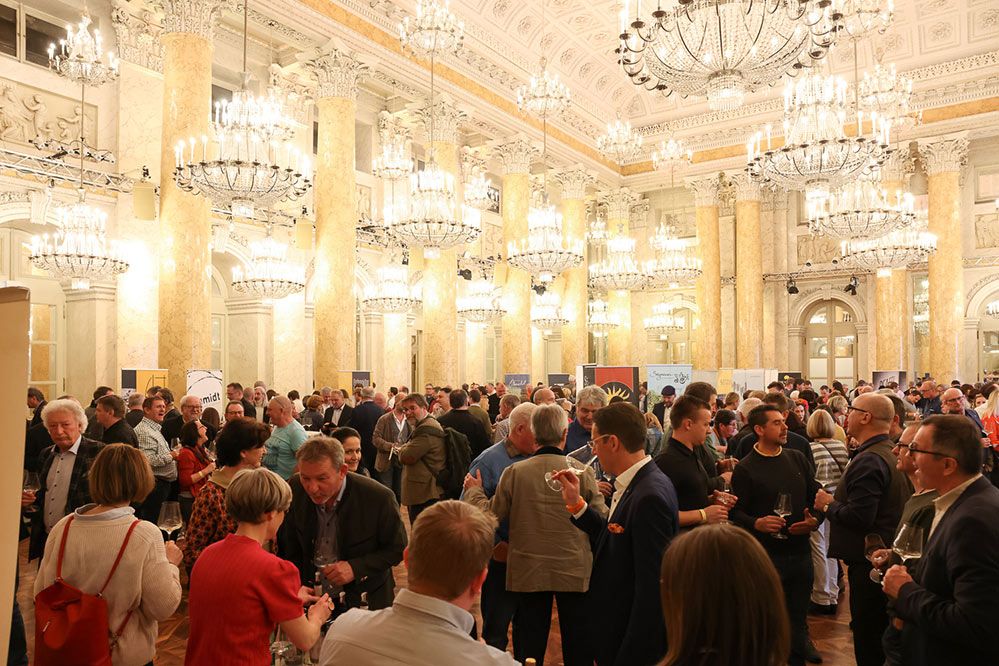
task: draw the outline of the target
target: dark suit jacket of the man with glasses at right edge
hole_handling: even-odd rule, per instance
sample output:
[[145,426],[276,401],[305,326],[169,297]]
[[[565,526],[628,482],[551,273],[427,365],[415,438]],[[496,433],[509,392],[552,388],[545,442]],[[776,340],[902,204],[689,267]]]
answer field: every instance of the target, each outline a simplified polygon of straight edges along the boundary
[[997,664],[992,640],[999,618],[999,489],[985,477],[947,510],[899,590],[902,663]]

